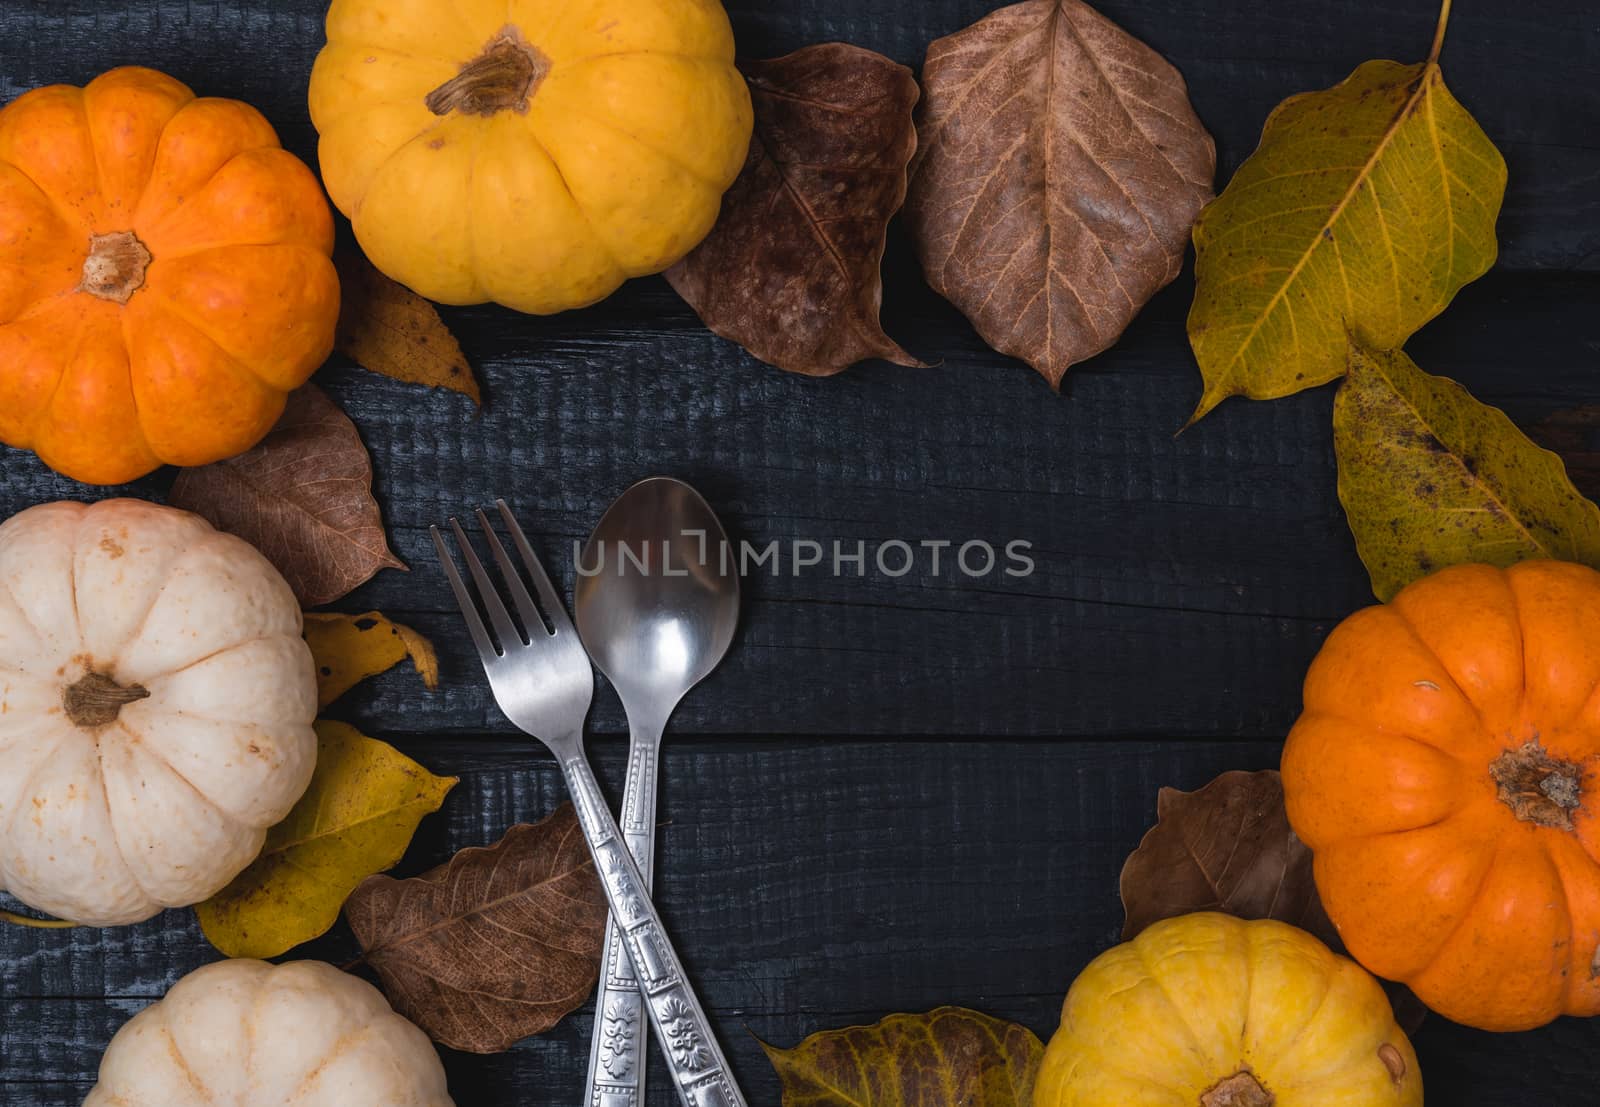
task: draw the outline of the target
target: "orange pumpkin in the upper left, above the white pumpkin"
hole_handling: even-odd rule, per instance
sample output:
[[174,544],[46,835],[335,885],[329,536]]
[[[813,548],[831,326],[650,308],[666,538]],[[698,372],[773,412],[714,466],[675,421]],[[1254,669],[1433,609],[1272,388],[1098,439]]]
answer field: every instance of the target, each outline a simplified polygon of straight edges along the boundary
[[328,357],[333,216],[246,104],[150,69],[0,110],[0,440],[96,485],[242,453]]

